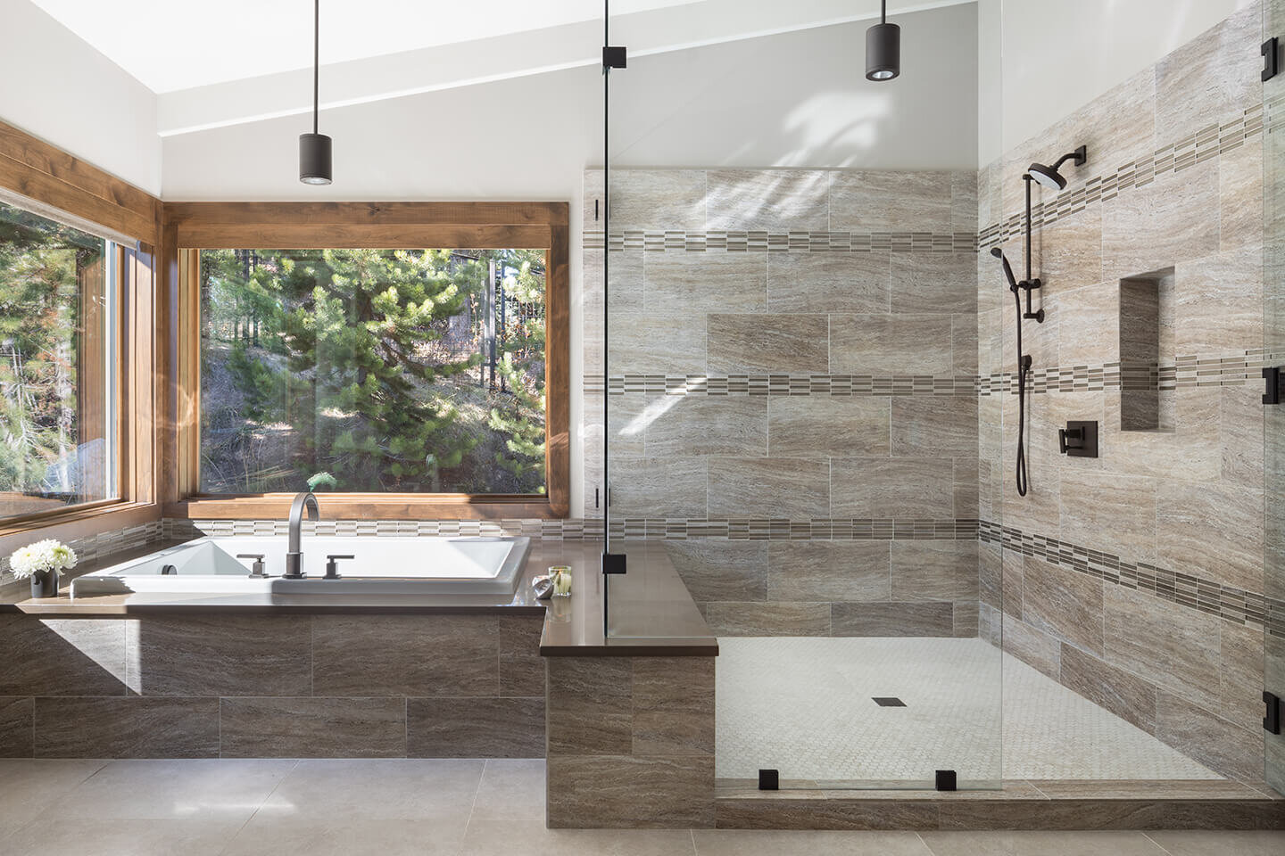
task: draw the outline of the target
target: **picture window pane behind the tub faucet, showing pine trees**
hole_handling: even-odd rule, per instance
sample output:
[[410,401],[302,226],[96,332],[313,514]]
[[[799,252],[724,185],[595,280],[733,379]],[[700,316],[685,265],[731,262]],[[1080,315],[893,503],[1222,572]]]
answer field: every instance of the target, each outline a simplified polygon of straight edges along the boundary
[[545,250],[198,263],[202,494],[547,493]]

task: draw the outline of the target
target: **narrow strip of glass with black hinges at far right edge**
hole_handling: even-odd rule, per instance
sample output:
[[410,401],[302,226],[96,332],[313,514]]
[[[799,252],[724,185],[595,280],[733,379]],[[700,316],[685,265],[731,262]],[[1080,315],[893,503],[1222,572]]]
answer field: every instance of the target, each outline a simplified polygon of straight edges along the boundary
[[[1263,349],[1264,364],[1280,367],[1285,364],[1285,63],[1280,62],[1285,59],[1285,0],[1267,0],[1263,10],[1264,60],[1266,46],[1276,37],[1281,68],[1263,81]],[[1263,407],[1263,687],[1267,694],[1285,698],[1285,404]],[[1285,793],[1285,737],[1270,729],[1264,734],[1267,783]]]

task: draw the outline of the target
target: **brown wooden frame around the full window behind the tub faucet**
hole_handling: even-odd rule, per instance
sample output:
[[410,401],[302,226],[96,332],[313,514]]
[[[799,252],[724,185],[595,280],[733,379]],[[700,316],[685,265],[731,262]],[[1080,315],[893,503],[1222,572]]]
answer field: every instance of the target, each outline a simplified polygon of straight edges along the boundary
[[170,425],[161,454],[167,517],[280,518],[293,494],[202,494],[200,318],[203,249],[544,249],[545,484],[538,494],[319,493],[326,518],[558,518],[571,508],[568,203],[168,203],[163,289],[175,334],[167,379]]

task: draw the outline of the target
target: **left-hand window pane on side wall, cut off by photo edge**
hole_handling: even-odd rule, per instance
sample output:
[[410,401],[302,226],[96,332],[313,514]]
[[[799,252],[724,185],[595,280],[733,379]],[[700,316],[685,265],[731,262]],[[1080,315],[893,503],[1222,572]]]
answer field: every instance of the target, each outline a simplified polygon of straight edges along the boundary
[[0,204],[0,518],[117,498],[117,245]]

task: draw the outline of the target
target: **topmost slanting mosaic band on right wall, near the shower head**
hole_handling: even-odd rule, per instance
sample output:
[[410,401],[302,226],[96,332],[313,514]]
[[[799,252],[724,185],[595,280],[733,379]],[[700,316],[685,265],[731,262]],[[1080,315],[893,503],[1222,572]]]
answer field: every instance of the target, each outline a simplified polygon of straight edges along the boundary
[[[1281,99],[1277,99],[1272,103],[1276,108],[1272,112],[1273,127],[1281,122],[1282,113],[1285,113],[1280,101]],[[1051,201],[1033,205],[1031,209],[1031,221],[1036,228],[1055,223],[1063,217],[1069,217],[1076,212],[1083,210],[1088,205],[1113,199],[1123,190],[1145,187],[1156,176],[1169,172],[1182,172],[1210,158],[1217,158],[1225,151],[1244,145],[1262,132],[1263,105],[1257,104],[1228,122],[1209,124],[1176,142],[1160,146],[1154,154],[1146,158],[1123,164],[1113,173],[1094,176],[1081,187],[1059,194]],[[978,249],[989,249],[1020,236],[1024,225],[1024,212],[1010,214],[1000,223],[991,223],[978,234]]]

